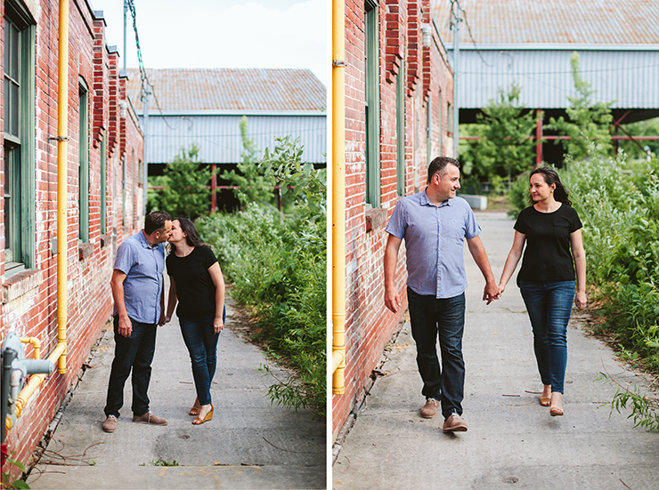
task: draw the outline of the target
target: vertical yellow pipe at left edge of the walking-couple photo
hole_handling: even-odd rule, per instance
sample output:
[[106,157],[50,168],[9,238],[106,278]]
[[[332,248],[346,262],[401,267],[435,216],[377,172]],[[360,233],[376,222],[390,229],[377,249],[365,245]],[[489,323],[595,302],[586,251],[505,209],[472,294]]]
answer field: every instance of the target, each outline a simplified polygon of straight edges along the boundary
[[332,393],[346,392],[346,4],[332,0]]

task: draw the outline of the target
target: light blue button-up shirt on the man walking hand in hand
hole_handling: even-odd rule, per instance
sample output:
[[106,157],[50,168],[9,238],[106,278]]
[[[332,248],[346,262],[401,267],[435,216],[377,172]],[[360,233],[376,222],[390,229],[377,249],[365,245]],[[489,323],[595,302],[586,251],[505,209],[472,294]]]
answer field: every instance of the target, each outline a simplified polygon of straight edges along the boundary
[[432,204],[426,190],[395,205],[386,231],[405,240],[407,285],[417,294],[452,298],[467,289],[464,240],[481,228],[462,197]]

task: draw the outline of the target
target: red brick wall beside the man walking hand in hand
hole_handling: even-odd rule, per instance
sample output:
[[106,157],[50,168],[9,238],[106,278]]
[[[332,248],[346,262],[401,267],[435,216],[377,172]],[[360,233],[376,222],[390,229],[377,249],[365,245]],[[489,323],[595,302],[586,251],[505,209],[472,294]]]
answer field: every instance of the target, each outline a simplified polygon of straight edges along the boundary
[[[395,332],[403,311],[392,314],[384,305],[383,257],[386,222],[397,201],[396,79],[404,76],[405,195],[426,181],[426,105],[432,93],[432,156],[449,149],[446,103],[452,100],[452,73],[433,28],[430,48],[421,46],[421,20],[430,20],[429,1],[385,0],[379,3],[380,28],[380,172],[381,209],[367,213],[365,205],[364,2],[346,0],[346,372],[344,395],[332,400],[333,437],[364,397],[364,387],[382,349]],[[401,73],[401,60],[405,73]],[[442,99],[439,92],[442,92]],[[439,127],[440,111],[443,127]],[[440,140],[441,139],[441,140]],[[368,215],[380,218],[367,231]],[[382,219],[384,218],[384,219]],[[404,246],[399,255],[396,286],[406,306]]]

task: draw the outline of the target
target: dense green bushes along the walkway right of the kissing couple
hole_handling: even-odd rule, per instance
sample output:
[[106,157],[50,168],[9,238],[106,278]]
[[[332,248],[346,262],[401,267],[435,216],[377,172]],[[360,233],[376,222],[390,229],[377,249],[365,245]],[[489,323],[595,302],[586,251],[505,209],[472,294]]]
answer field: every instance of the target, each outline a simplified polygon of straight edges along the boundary
[[211,214],[197,227],[223,264],[232,297],[256,314],[257,338],[297,373],[270,387],[273,403],[308,407],[324,416],[326,177],[324,170],[302,164],[301,155],[298,142],[285,138],[272,152],[265,150],[261,163],[287,189],[292,215],[250,203],[240,213]]

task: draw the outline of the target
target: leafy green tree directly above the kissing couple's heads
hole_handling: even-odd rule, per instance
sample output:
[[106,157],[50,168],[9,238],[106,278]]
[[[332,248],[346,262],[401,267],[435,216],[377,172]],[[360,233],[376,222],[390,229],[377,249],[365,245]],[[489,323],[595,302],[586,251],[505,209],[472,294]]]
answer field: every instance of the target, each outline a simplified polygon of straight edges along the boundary
[[150,177],[150,185],[164,186],[149,193],[150,211],[167,211],[172,216],[186,216],[195,220],[208,213],[211,190],[208,187],[213,173],[199,160],[199,145],[181,153],[167,164],[161,177]]

